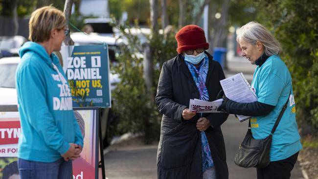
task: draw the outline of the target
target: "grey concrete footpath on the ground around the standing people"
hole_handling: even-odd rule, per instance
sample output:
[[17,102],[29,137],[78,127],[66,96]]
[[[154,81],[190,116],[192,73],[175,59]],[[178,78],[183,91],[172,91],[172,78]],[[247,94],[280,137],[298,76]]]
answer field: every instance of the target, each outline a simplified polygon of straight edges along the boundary
[[[256,179],[255,168],[241,168],[233,162],[238,146],[246,134],[247,126],[247,121],[240,123],[234,115],[230,115],[222,125],[229,179]],[[139,138],[114,144],[104,156],[106,177],[109,179],[157,179],[157,147],[158,142],[144,145]],[[292,171],[291,179],[304,179],[298,162]]]

